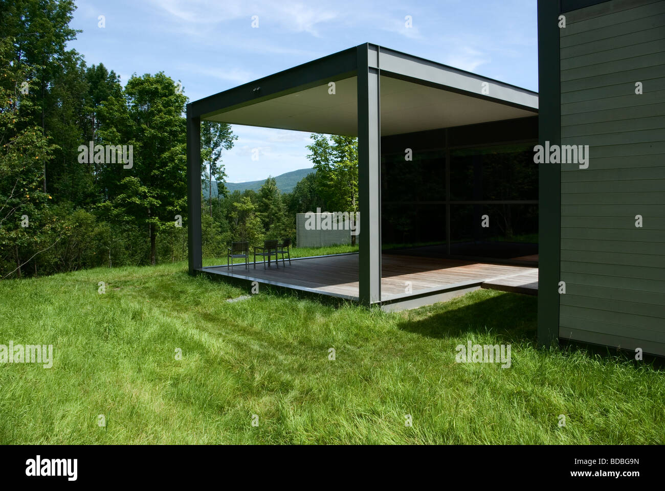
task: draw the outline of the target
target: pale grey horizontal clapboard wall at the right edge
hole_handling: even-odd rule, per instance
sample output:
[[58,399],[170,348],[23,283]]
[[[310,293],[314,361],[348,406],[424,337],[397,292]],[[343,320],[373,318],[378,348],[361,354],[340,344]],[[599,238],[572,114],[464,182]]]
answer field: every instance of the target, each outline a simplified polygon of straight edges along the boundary
[[561,144],[591,158],[561,164],[559,337],[665,355],[665,1],[565,16]]

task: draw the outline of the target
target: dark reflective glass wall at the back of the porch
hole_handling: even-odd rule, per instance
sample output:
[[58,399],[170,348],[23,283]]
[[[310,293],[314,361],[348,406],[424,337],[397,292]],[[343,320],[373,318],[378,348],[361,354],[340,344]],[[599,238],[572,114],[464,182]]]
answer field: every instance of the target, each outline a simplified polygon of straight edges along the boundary
[[382,138],[384,252],[537,261],[537,118]]

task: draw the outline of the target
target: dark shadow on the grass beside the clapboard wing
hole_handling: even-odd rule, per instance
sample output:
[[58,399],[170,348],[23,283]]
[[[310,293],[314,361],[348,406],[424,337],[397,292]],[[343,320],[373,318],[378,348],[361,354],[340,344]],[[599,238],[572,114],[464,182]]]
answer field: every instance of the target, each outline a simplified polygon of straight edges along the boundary
[[[470,295],[477,295],[471,293]],[[422,319],[414,312],[400,321],[404,331],[426,337],[442,339],[464,335],[501,336],[502,341],[518,343],[536,341],[538,319],[537,297],[503,293],[483,300],[455,307],[469,296],[434,307],[434,311]],[[414,317],[416,317],[414,319]]]

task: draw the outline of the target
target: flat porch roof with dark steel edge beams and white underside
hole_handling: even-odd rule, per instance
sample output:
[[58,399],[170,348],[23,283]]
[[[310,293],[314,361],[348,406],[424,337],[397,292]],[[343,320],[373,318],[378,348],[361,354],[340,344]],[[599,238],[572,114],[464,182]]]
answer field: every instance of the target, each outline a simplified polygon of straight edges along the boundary
[[[368,46],[380,75],[381,134],[533,116],[538,94],[378,45]],[[203,120],[357,135],[357,49],[197,100]],[[330,82],[334,82],[331,94]]]

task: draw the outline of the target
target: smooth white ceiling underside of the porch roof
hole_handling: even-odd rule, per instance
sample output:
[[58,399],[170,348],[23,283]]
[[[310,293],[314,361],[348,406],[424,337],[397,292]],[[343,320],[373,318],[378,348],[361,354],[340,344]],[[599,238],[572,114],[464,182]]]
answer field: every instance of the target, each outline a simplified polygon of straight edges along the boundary
[[[205,118],[211,121],[299,130],[307,132],[358,134],[356,77],[263,100]],[[535,116],[525,110],[421,85],[392,77],[380,77],[381,134],[409,133],[480,122]]]

